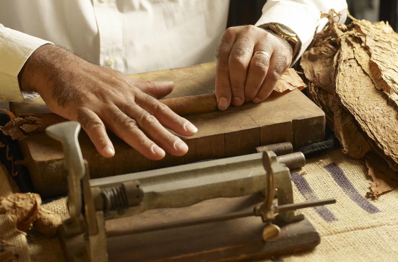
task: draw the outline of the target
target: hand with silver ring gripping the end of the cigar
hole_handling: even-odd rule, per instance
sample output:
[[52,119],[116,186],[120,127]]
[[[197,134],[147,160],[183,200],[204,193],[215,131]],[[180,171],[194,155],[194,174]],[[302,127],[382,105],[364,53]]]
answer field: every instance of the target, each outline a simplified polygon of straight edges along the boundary
[[254,25],[229,27],[217,48],[215,95],[219,109],[225,110],[230,103],[240,106],[264,101],[291,61],[292,48],[285,39]]

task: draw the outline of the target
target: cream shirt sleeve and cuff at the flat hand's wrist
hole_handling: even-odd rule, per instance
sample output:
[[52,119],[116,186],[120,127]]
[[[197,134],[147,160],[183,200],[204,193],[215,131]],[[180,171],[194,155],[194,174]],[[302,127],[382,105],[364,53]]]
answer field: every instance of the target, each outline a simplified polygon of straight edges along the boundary
[[53,43],[0,24],[0,100],[23,101],[24,95],[18,83],[18,74],[27,58],[45,44]]

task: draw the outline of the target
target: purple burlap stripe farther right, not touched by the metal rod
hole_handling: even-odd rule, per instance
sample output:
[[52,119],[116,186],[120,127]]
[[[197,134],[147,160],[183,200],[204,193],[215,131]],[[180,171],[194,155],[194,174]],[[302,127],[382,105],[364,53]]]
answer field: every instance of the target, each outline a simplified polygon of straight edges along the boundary
[[343,192],[351,198],[359,207],[368,213],[380,212],[377,207],[369,203],[355,188],[351,181],[345,176],[343,170],[335,163],[325,166],[325,169],[332,175],[336,183],[341,187]]

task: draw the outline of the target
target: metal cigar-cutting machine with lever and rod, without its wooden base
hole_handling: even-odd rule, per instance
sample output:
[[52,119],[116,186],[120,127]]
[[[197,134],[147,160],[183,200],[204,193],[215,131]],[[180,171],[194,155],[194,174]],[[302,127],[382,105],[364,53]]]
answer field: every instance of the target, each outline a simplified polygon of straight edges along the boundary
[[[275,249],[273,245],[280,241],[283,231],[279,225],[302,221],[304,215],[301,208],[336,202],[334,199],[326,199],[294,203],[289,168],[277,161],[273,151],[90,180],[88,163],[83,159],[78,143],[80,124],[62,122],[49,126],[46,132],[61,142],[68,169],[70,217],[65,218],[59,228],[61,242],[76,235],[84,236],[84,245],[80,250],[68,249],[63,244],[66,258],[70,261],[108,261],[109,238],[243,217],[258,217],[262,233],[255,239],[256,245]],[[263,200],[246,211],[168,221],[119,231],[106,231],[104,226],[106,220],[135,216],[146,210],[181,208],[203,200],[231,199],[258,192],[263,194]],[[286,243],[291,242],[288,239]],[[295,251],[297,250],[292,252]],[[245,260],[241,258],[242,256],[238,260]],[[199,258],[198,261],[209,261],[208,259]],[[135,260],[130,257],[129,261]]]

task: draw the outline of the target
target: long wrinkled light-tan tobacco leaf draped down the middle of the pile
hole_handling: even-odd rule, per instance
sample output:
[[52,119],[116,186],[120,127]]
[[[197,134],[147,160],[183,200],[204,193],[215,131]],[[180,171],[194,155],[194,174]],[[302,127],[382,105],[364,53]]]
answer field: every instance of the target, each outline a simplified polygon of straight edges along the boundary
[[336,93],[342,105],[382,150],[390,167],[398,170],[398,113],[357,62],[348,36],[341,37]]

